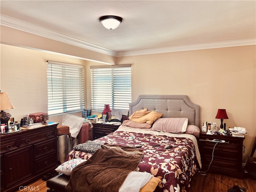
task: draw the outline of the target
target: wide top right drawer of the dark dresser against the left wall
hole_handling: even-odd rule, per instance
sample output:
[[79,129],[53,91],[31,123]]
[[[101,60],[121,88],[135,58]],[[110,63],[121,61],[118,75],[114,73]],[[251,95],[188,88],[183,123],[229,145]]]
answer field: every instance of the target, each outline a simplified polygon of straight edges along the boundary
[[40,132],[36,132],[36,134],[33,134],[33,132],[31,132],[31,134],[26,134],[25,136],[22,136],[20,138],[20,146],[50,138],[55,138],[53,129],[42,130]]

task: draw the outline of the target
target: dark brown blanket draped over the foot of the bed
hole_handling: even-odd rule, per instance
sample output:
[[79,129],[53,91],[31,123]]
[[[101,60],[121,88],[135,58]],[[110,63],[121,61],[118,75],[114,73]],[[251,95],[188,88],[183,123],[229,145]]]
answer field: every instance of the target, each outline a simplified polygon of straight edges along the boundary
[[76,166],[67,192],[118,192],[127,175],[135,171],[143,151],[133,147],[105,144],[86,162]]

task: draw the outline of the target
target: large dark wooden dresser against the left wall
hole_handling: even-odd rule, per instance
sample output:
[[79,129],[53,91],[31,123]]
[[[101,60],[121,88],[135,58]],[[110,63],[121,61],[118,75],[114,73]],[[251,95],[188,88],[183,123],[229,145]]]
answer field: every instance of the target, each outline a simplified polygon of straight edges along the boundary
[[48,122],[40,128],[1,134],[1,192],[18,190],[58,166],[57,125]]

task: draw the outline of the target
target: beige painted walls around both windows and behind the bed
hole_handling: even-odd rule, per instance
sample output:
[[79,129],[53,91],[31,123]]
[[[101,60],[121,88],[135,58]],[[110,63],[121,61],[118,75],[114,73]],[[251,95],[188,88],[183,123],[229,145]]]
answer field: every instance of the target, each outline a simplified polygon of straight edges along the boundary
[[[188,95],[200,105],[201,122],[218,124],[217,110],[225,108],[229,117],[224,120],[227,127],[243,126],[248,131],[244,141],[246,161],[256,136],[255,52],[256,46],[238,46],[126,56],[116,58],[116,62],[132,64],[132,101],[139,94]],[[90,65],[102,64],[1,44],[0,89],[8,92],[16,107],[7,110],[14,118],[47,111],[46,60],[85,65],[86,107],[90,108]],[[61,116],[50,120],[61,122]]]

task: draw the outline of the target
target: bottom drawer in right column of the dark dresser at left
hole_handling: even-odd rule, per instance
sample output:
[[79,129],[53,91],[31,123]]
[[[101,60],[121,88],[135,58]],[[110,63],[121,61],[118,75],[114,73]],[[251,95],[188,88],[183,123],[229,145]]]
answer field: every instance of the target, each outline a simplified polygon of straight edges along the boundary
[[48,168],[56,165],[57,153],[48,154],[42,158],[35,160],[35,173],[43,172]]

